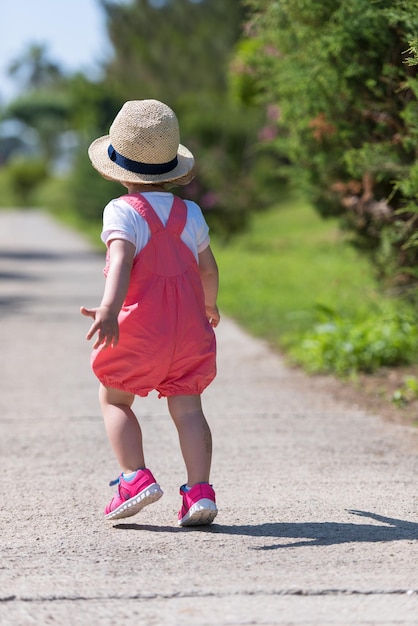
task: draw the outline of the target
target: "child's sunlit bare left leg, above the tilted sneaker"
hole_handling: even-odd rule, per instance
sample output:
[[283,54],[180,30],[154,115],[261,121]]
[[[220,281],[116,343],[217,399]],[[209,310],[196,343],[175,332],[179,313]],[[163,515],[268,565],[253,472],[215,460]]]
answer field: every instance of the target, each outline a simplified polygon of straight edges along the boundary
[[145,467],[141,427],[131,409],[134,399],[133,394],[100,385],[106,433],[123,472]]

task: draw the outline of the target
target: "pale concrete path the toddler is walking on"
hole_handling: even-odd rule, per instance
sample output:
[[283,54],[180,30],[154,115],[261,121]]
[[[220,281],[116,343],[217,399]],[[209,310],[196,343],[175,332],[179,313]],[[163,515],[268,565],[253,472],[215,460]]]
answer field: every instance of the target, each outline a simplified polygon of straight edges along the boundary
[[136,409],[165,495],[103,520],[118,467],[78,313],[102,267],[44,214],[0,212],[0,624],[417,625],[417,431],[337,403],[228,319],[204,395],[216,524],[176,525],[185,474],[154,395]]

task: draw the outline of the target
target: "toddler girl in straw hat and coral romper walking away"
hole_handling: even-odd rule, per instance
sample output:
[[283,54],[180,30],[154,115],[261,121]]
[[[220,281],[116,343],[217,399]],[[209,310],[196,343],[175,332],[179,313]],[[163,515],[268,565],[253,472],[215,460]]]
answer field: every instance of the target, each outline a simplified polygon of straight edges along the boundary
[[200,395],[216,375],[213,327],[218,269],[200,208],[167,191],[194,176],[194,158],[180,144],[174,112],[157,100],[124,104],[109,135],[89,156],[105,178],[128,193],[103,214],[106,283],[98,307],[81,308],[97,334],[92,368],[106,432],[122,473],[107,519],[135,515],[163,492],[146,467],[135,396],[167,397],[187,469],[180,526],[210,524],[217,515],[209,484],[212,438]]

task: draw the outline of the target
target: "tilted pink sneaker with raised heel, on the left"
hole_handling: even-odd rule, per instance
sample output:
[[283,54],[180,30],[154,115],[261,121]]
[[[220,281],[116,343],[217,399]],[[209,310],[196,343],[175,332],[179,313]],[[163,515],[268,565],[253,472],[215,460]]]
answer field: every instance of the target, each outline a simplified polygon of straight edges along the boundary
[[118,486],[117,493],[105,508],[106,519],[120,519],[136,515],[163,495],[160,485],[147,469],[138,470],[133,480],[125,480],[123,474],[110,485]]

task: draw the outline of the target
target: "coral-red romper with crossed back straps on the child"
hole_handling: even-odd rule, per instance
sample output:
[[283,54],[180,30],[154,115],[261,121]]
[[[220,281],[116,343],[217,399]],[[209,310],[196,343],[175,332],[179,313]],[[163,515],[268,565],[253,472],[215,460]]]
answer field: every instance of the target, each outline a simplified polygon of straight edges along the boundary
[[216,340],[196,258],[180,238],[187,206],[174,196],[164,227],[143,196],[123,199],[145,219],[151,238],[133,262],[119,342],[93,350],[93,371],[105,387],[138,396],[153,389],[160,397],[201,394],[216,375]]

